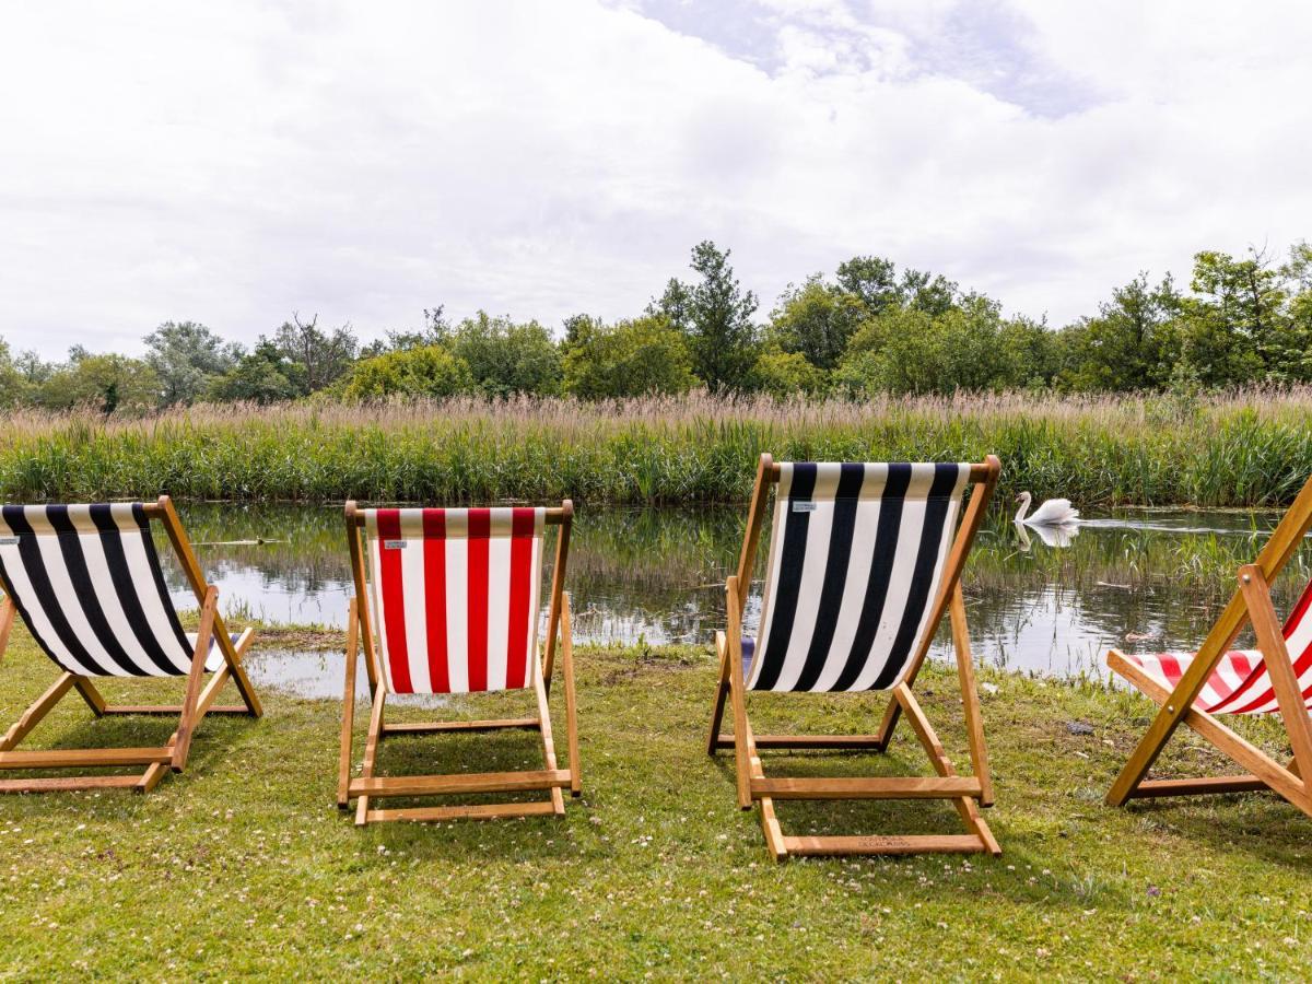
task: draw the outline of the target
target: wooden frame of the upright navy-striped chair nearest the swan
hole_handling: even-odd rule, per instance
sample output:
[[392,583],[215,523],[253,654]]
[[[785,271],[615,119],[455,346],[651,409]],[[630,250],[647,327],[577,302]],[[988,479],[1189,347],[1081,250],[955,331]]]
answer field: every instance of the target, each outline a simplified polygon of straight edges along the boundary
[[[747,714],[747,691],[743,678],[743,610],[748,586],[756,565],[757,546],[765,523],[770,488],[779,479],[779,467],[769,454],[762,454],[756,472],[756,487],[748,513],[747,534],[739,558],[737,573],[727,581],[728,627],[715,638],[719,656],[719,685],[711,712],[707,753],[731,748],[737,773],[737,802],[741,810],[750,810],[753,802],[761,807],[761,828],[775,861],[789,855],[846,855],[846,854],[921,854],[987,851],[1001,854],[980,807],[993,804],[993,786],[989,778],[988,749],[980,715],[975,665],[966,623],[966,604],[962,597],[960,576],[970,555],[971,544],[984,520],[984,510],[997,485],[1001,464],[989,455],[981,464],[971,466],[970,485],[974,487],[966,513],[953,539],[938,597],[930,607],[929,631],[912,655],[905,678],[892,689],[892,695],[878,732],[872,735],[756,735]],[[929,719],[916,701],[912,687],[921,664],[929,652],[933,636],[947,614],[951,622],[956,669],[962,702],[966,712],[967,739],[974,775],[958,775],[953,762],[934,733]],[[720,731],[724,705],[729,702],[733,714],[733,733]],[[929,756],[937,777],[926,778],[768,778],[760,749],[848,749],[883,752],[888,748],[899,718],[905,714],[912,731]],[[968,833],[924,836],[829,836],[794,837],[783,833],[775,817],[775,799],[947,799],[960,815]]]

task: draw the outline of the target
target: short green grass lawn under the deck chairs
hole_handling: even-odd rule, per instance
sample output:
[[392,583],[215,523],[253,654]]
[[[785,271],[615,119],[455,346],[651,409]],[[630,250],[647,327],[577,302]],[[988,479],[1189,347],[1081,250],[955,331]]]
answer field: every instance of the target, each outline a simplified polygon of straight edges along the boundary
[[[270,642],[270,634],[265,642]],[[321,635],[320,635],[321,638]],[[256,646],[260,646],[257,639]],[[338,664],[329,672],[338,673]],[[207,719],[155,792],[0,799],[0,975],[878,979],[1305,977],[1312,821],[1271,795],[1111,810],[1102,794],[1145,699],[984,674],[1001,858],[768,859],[703,748],[702,649],[581,649],[584,798],[551,817],[357,829],[333,804],[340,706],[265,691],[265,718]],[[8,727],[54,678],[17,628]],[[176,685],[106,686],[173,697]],[[150,691],[143,694],[143,691]],[[955,677],[918,687],[966,762]],[[554,698],[558,745],[563,714]],[[457,702],[483,716],[525,694]],[[867,697],[762,697],[758,731],[862,731]],[[395,719],[432,716],[390,708]],[[1135,720],[1139,719],[1138,724]],[[1086,722],[1092,735],[1071,733]],[[362,722],[358,722],[363,727]],[[1269,748],[1273,722],[1244,728]],[[161,744],[167,720],[93,722],[68,697],[24,748]],[[357,741],[357,761],[361,754]],[[903,726],[886,757],[766,752],[766,771],[928,771]],[[384,771],[538,768],[537,737],[396,739]],[[1181,735],[1162,771],[1220,758]],[[786,830],[958,832],[946,804],[779,806]]]

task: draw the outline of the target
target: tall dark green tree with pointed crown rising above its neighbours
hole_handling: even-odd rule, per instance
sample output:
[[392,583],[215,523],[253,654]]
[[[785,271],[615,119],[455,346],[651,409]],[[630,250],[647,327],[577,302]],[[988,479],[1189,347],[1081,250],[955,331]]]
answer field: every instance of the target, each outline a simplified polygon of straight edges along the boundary
[[711,392],[741,390],[757,357],[756,294],[739,286],[729,255],[710,240],[698,243],[690,265],[701,279],[672,279],[648,306],[687,338],[693,371]]

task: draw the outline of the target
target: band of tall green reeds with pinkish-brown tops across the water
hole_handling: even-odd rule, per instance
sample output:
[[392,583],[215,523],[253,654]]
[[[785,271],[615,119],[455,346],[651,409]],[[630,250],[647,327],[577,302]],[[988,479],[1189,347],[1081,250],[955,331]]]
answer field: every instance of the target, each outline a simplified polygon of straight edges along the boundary
[[199,405],[10,413],[9,501],[741,501],[779,459],[1004,462],[1004,491],[1081,506],[1284,505],[1312,472],[1312,388],[1197,399],[651,398]]

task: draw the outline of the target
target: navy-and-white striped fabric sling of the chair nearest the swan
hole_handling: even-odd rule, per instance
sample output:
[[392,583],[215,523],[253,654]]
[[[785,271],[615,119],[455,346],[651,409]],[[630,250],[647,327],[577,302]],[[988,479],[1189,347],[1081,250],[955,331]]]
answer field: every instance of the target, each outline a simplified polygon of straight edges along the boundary
[[924,640],[970,464],[779,464],[750,690],[888,690]]

